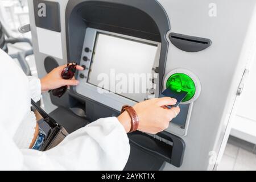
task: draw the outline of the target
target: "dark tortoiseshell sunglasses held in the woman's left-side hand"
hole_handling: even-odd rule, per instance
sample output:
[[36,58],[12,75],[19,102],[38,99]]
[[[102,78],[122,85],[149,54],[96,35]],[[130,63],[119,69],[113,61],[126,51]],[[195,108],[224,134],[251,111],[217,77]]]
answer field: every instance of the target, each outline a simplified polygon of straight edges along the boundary
[[[77,63],[67,64],[67,67],[65,67],[63,69],[63,71],[61,72],[61,77],[65,80],[71,80],[75,76],[76,66],[77,66]],[[65,94],[65,92],[67,92],[67,90],[68,90],[68,86],[65,85],[65,86],[61,86],[60,88],[57,88],[54,90],[49,90],[49,92],[52,91],[53,96],[60,98],[61,96],[63,96]]]

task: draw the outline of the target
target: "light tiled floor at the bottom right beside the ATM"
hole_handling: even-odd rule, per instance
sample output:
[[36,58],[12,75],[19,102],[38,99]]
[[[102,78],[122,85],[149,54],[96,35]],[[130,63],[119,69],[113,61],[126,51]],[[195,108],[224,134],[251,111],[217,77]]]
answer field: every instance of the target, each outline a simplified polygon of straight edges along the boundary
[[256,170],[256,147],[254,144],[230,137],[226,146],[219,171]]

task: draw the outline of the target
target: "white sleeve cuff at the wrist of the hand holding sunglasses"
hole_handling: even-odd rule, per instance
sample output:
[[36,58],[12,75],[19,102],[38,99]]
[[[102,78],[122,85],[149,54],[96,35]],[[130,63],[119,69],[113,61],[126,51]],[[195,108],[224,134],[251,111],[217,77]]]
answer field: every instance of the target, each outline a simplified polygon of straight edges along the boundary
[[30,94],[32,100],[38,102],[41,99],[41,82],[39,78],[27,76],[30,85]]

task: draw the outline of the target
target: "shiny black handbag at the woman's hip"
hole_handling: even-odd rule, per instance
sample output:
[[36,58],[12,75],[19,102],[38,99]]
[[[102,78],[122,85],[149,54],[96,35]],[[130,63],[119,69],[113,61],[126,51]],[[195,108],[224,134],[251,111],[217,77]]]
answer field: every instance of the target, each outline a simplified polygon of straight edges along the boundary
[[56,147],[65,139],[65,137],[68,136],[67,130],[65,130],[63,126],[59,125],[53,118],[51,118],[40,106],[36,104],[35,101],[31,100],[31,105],[38,111],[40,115],[42,115],[43,120],[51,128],[40,151],[47,151],[53,147]]

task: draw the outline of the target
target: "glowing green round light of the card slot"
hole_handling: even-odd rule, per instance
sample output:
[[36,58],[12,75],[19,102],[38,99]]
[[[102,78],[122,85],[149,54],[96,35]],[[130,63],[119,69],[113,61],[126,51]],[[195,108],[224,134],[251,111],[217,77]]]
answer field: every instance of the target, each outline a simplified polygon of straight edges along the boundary
[[184,98],[183,102],[191,100],[196,93],[196,85],[191,77],[184,73],[175,73],[167,80],[166,87],[174,92],[188,92],[188,95]]

